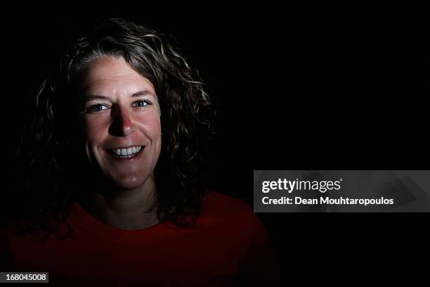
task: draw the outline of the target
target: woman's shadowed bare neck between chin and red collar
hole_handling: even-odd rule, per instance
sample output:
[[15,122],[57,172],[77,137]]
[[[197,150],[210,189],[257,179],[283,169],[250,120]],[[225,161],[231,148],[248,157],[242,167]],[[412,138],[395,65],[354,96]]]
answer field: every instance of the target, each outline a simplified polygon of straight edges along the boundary
[[110,227],[145,229],[159,223],[157,208],[153,208],[155,191],[155,181],[150,177],[134,189],[118,186],[92,189],[84,193],[79,203],[89,215]]

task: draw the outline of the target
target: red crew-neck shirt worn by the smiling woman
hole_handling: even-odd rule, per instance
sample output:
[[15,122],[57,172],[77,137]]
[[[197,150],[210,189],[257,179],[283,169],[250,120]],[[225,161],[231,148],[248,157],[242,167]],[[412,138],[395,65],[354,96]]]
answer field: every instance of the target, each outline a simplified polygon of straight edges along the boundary
[[[6,233],[16,271],[49,272],[61,286],[271,286],[275,259],[266,231],[245,200],[210,192],[195,228],[161,222],[143,230],[107,226],[78,203],[74,233],[37,241]],[[62,227],[62,230],[63,229]]]

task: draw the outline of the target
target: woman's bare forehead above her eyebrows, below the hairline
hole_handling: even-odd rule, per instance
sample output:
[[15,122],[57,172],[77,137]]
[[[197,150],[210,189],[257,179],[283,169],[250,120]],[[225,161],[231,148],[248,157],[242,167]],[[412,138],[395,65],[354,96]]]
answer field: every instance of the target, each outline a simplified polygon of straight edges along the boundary
[[88,92],[149,89],[152,83],[133,70],[123,58],[103,57],[91,61],[82,75],[82,89]]

